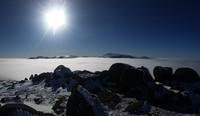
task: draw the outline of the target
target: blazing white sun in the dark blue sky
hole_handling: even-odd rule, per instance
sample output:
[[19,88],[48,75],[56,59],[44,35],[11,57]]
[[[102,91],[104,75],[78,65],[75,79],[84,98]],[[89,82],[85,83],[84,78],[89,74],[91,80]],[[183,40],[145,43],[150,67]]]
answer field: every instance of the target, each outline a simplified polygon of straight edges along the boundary
[[54,31],[66,24],[65,12],[62,9],[52,9],[45,16],[48,26]]

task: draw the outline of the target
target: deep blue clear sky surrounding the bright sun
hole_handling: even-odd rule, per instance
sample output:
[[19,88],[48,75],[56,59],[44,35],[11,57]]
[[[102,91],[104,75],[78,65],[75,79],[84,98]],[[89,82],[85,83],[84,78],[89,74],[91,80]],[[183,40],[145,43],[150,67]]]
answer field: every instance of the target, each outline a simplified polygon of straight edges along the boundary
[[0,57],[200,58],[199,0],[66,0],[69,25],[44,36],[45,9],[64,0],[0,0]]

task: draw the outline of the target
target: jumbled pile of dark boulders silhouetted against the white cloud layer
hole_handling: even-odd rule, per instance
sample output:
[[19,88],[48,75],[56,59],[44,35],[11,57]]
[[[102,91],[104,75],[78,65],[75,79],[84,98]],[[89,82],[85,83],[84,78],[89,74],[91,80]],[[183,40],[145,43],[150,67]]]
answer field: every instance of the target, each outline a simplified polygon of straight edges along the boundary
[[[60,65],[53,73],[32,76],[33,83],[46,82],[53,90],[66,88],[72,94],[67,103],[67,115],[107,116],[110,110],[122,107],[122,101],[134,99],[124,106],[124,112],[135,112],[144,103],[186,113],[199,113],[200,77],[191,68],[156,66],[153,76],[146,67],[115,63],[105,71],[74,71]],[[73,90],[72,90],[73,88]],[[137,100],[136,100],[137,99]],[[188,109],[193,110],[185,110]],[[140,110],[141,111],[141,110]]]

